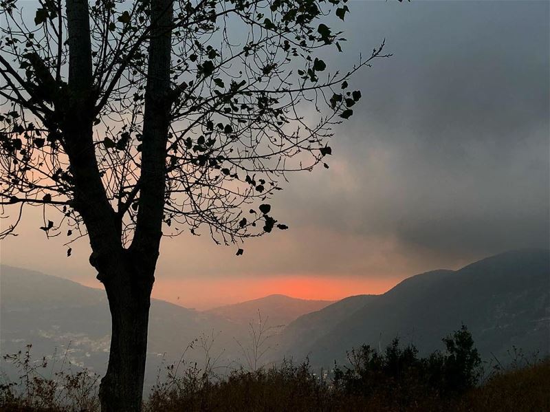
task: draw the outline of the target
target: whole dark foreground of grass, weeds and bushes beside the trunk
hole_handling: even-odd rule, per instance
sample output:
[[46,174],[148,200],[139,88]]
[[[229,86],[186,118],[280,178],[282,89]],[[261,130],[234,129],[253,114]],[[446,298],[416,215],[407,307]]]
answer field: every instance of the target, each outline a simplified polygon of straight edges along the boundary
[[[237,369],[228,376],[190,365],[167,368],[144,412],[550,412],[550,359],[514,362],[509,369],[483,370],[472,335],[463,326],[443,338],[445,351],[418,356],[396,338],[384,351],[362,345],[347,365],[313,373],[309,364],[285,360],[277,367]],[[99,411],[99,377],[87,371],[43,376],[47,361],[30,348],[4,356],[19,371],[0,382],[0,411]],[[485,378],[482,378],[485,376]]]

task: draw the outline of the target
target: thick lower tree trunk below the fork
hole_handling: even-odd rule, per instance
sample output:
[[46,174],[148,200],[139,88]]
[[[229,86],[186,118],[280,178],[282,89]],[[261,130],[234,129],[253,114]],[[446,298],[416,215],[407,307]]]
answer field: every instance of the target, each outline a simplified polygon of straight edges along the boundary
[[110,273],[102,278],[111,310],[111,349],[100,384],[101,411],[137,412],[142,406],[154,278],[137,269],[129,256],[109,266]]

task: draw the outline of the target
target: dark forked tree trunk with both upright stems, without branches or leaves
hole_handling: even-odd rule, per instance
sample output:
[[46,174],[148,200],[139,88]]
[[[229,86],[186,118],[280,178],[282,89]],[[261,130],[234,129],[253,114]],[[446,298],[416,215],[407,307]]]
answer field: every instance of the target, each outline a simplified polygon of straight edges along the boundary
[[122,248],[120,219],[107,199],[92,134],[94,85],[87,0],[67,0],[69,102],[63,133],[75,180],[74,208],[83,217],[111,311],[111,350],[100,384],[102,412],[141,410],[148,315],[164,212],[170,113],[173,0],[151,1],[139,210],[133,241]]

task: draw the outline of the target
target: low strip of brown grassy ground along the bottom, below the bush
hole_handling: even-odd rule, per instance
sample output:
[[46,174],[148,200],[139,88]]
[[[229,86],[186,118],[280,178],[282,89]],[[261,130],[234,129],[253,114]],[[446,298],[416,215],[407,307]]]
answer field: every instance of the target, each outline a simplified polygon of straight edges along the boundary
[[[550,411],[550,361],[497,373],[485,384],[451,398],[417,393],[410,404],[399,406],[386,396],[364,398],[343,395],[311,384],[300,371],[289,379],[285,373],[239,373],[203,387],[199,393],[171,397],[157,392],[146,402],[146,411]],[[298,381],[296,381],[298,380]],[[309,383],[308,383],[309,382]],[[3,392],[5,395],[5,391]],[[172,394],[174,395],[174,393]],[[37,399],[35,399],[36,401]],[[24,398],[3,398],[0,411],[65,412],[98,411],[93,399],[86,404],[32,406]],[[80,407],[89,409],[80,409]]]

